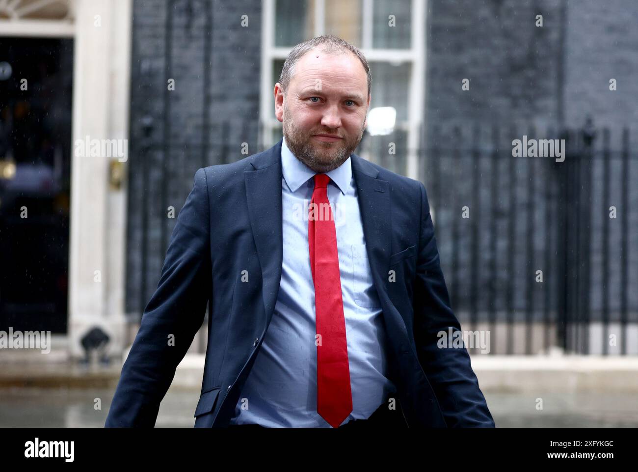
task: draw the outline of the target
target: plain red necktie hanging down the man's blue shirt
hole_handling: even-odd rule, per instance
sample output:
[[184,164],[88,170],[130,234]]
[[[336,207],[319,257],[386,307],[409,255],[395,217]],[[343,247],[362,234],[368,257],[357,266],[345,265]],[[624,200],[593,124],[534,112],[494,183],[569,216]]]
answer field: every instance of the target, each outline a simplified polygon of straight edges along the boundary
[[320,340],[316,343],[317,413],[336,428],[352,411],[352,391],[337,234],[327,192],[329,180],[326,174],[315,174],[315,190],[308,212],[308,246],[315,283],[317,339]]

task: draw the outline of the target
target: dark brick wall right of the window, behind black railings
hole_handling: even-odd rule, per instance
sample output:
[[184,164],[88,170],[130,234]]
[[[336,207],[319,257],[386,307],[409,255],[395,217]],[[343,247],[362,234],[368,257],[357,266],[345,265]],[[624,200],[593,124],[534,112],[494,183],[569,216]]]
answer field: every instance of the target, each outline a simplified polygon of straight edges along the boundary
[[[537,14],[543,27],[535,26]],[[518,317],[530,298],[532,319],[545,306],[564,314],[560,284],[571,259],[568,277],[575,280],[582,271],[582,278],[578,293],[571,291],[575,285],[567,292],[574,303],[584,303],[576,308],[581,316],[588,302],[593,319],[607,311],[618,320],[624,296],[635,321],[638,294],[629,287],[638,280],[636,24],[638,3],[632,0],[429,0],[422,179],[437,210],[452,308],[462,320],[477,310],[510,310]],[[465,78],[470,91],[461,89]],[[618,80],[617,91],[609,91],[611,78]],[[597,134],[593,164],[572,169],[581,169],[581,180],[552,158],[511,156],[512,139],[558,139],[561,127],[581,128],[588,117]],[[609,129],[607,146],[602,127]],[[625,127],[628,146],[622,142]],[[578,146],[582,141],[570,143],[568,160],[583,156]],[[623,149],[630,153],[627,172]],[[498,155],[496,167],[491,155]],[[581,195],[565,199],[570,185]],[[461,219],[462,206],[470,207],[470,220]],[[616,206],[618,219],[609,219],[609,206]],[[565,221],[567,227],[561,226]],[[586,239],[577,247],[574,238]],[[545,287],[529,282],[529,271],[537,269],[544,270]]]

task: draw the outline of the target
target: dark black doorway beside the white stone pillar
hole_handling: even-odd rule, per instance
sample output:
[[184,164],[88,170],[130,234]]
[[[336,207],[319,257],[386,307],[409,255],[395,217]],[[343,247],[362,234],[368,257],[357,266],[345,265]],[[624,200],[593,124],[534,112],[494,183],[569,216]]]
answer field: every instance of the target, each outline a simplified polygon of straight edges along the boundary
[[73,40],[0,37],[0,330],[66,333]]

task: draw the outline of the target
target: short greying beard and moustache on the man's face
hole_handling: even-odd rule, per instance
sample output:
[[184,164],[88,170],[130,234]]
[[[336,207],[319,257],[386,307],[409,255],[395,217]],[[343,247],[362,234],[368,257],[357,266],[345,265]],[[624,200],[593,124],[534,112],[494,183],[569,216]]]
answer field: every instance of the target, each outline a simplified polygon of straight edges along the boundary
[[[337,133],[325,130],[308,133],[301,130],[295,126],[293,119],[288,113],[288,107],[284,106],[283,109],[283,135],[286,139],[286,146],[288,146],[288,149],[292,151],[297,159],[318,174],[330,172],[332,169],[336,169],[339,165],[346,162],[348,157],[350,157],[354,150],[357,149],[357,146],[359,146],[364,130],[365,126],[361,126],[359,136],[351,139],[343,137],[340,141],[318,141],[313,139],[313,134],[325,133],[335,135]],[[311,139],[313,139],[314,144],[310,141]]]

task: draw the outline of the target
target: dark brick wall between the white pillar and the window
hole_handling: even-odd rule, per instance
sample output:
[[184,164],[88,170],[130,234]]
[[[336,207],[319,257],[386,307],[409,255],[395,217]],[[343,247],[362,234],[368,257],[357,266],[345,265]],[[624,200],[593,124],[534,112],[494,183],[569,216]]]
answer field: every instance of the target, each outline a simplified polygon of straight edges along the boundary
[[[126,311],[157,287],[175,218],[200,167],[258,138],[260,0],[135,0]],[[248,27],[241,26],[248,15]],[[167,80],[175,90],[167,90]]]

